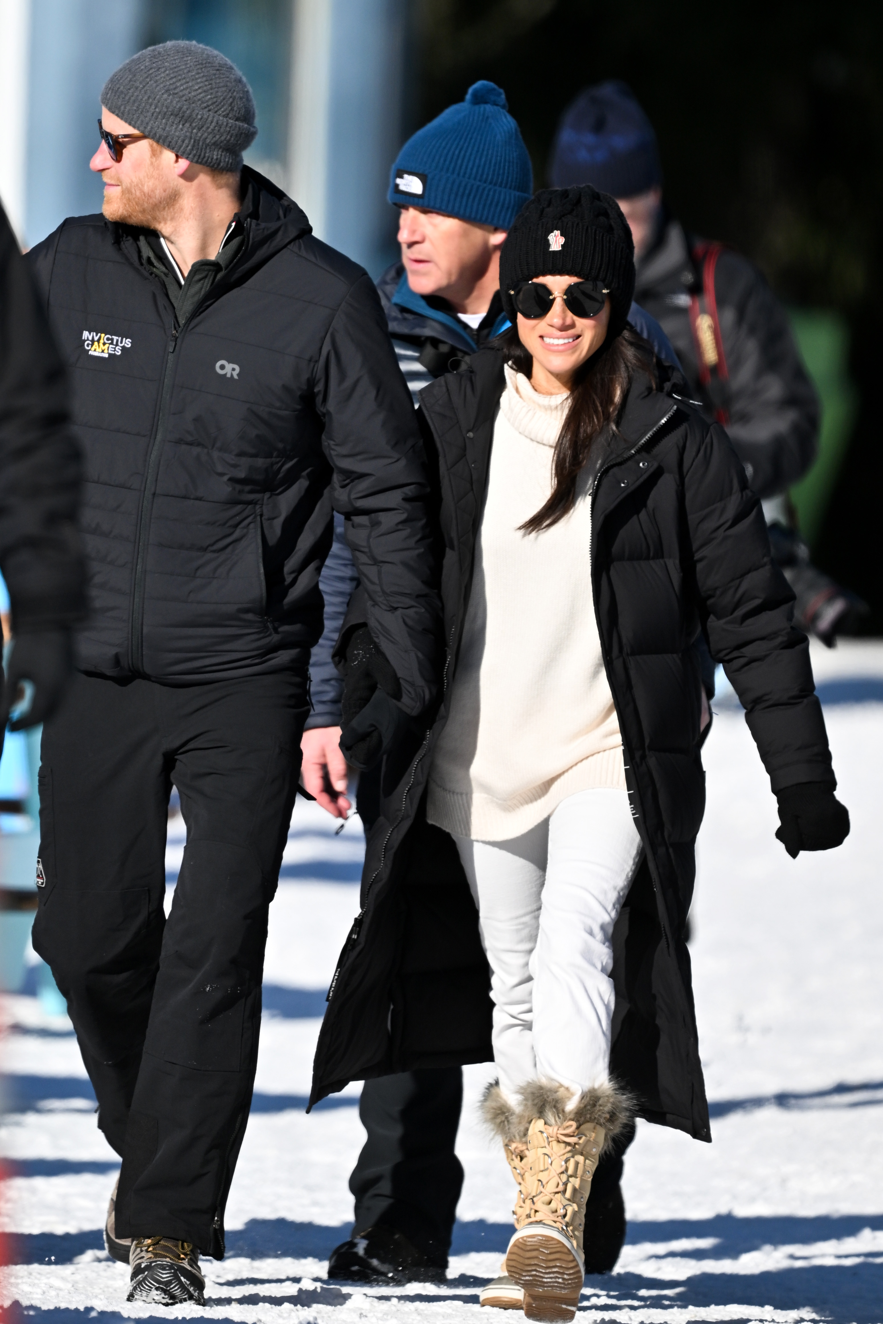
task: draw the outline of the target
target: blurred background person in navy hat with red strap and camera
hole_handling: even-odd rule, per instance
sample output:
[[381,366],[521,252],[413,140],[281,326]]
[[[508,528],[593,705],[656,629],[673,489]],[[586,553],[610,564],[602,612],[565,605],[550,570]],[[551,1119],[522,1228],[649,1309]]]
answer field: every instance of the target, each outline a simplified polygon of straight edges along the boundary
[[788,489],[815,458],[819,409],[785,310],[747,258],[688,234],[666,209],[657,135],[626,83],[585,87],[568,106],[549,175],[556,188],[594,184],[618,201],[634,238],[635,299],[662,323],[764,502],[797,624],[831,645],[862,604],[809,564],[793,527]]

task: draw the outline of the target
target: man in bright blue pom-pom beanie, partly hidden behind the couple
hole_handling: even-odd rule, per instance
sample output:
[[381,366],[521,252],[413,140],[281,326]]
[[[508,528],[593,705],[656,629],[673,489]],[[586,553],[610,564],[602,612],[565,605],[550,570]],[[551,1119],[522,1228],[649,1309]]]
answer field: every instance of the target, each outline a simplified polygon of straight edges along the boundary
[[[398,208],[401,261],[384,273],[377,287],[414,405],[433,377],[458,371],[463,359],[508,326],[499,295],[499,250],[531,193],[527,148],[504,93],[491,82],[470,87],[465,101],[416,132],[398,152],[388,196]],[[630,320],[662,357],[674,360],[661,328],[634,305]],[[360,628],[364,617],[353,593],[357,577],[340,528],[320,583],[326,628],[310,659],[314,712],[302,743],[302,776],[318,802],[344,818],[349,801],[339,748],[343,682],[332,651],[340,636],[335,655],[344,662],[349,688],[356,655],[371,659],[372,645],[368,630]],[[363,665],[369,669],[372,663]],[[346,708],[346,692],[343,704]],[[376,775],[361,776],[357,802],[371,833],[379,806]],[[440,981],[446,980],[438,1001],[453,998],[453,1005],[463,1009],[449,1058],[453,1063],[478,1062],[491,1055],[485,956],[477,951],[471,967],[440,969],[445,924],[469,925],[470,916],[461,919],[461,907],[473,910],[474,923],[473,902],[457,865],[454,874],[441,882],[426,879],[404,900],[408,955],[406,968],[395,981],[393,1035],[400,1018],[412,1030],[420,1019],[409,1005],[409,981],[438,992]],[[326,1021],[331,1025],[332,1019],[334,1004]],[[322,1054],[323,1041],[318,1062]],[[454,1153],[462,1071],[459,1064],[421,1062],[413,1049],[412,1058],[401,1047],[393,1049],[391,1058],[393,1074],[365,1080],[361,1092],[360,1116],[368,1139],[349,1180],[355,1227],[352,1239],[334,1250],[328,1276],[373,1283],[442,1280],[463,1181]],[[482,1294],[482,1304],[520,1307],[520,1288],[496,1284],[490,1295],[487,1290]]]

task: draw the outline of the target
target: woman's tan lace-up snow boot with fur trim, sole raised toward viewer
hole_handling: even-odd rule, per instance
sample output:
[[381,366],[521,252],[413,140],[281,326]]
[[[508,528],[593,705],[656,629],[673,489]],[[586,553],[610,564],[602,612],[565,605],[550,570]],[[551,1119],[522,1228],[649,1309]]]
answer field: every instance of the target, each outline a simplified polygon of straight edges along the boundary
[[498,1084],[488,1087],[483,1103],[519,1186],[506,1272],[524,1291],[524,1315],[549,1324],[576,1315],[592,1176],[634,1111],[614,1084],[585,1090],[568,1107],[571,1099],[565,1086],[532,1080],[522,1088],[518,1107]]

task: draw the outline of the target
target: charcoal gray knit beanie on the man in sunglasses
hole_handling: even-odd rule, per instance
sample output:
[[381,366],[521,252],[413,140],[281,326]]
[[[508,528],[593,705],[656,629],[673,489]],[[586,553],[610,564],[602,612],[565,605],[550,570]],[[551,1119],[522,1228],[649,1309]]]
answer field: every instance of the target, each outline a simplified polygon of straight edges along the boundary
[[148,46],[110,75],[101,103],[139,134],[209,169],[242,168],[257,135],[254,98],[220,50],[199,41]]

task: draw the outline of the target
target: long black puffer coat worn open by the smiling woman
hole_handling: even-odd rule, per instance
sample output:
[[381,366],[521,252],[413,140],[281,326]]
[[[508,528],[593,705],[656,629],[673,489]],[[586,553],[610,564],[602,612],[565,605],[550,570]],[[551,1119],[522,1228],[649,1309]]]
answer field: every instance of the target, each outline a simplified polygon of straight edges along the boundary
[[[674,395],[678,380],[654,391],[637,379],[618,430],[593,449],[590,575],[646,851],[614,932],[612,1070],[638,1094],[642,1116],[707,1140],[683,941],[706,798],[694,649],[700,630],[745,707],[773,790],[834,785],[834,776],[808,642],[792,625],[793,594],[770,563],[760,504],[723,429]],[[457,667],[502,391],[503,354],[490,348],[422,393],[445,549],[449,670]],[[359,624],[356,606],[344,636]],[[332,984],[314,1100],[349,1079],[490,1057],[475,910],[466,904],[451,838],[428,826],[422,809],[449,694],[424,743],[384,765],[363,911]]]

